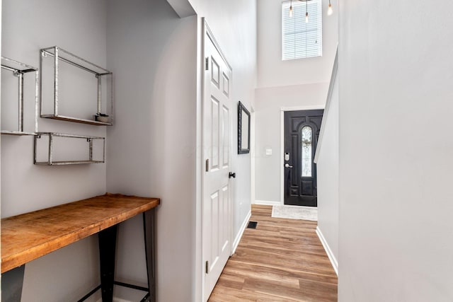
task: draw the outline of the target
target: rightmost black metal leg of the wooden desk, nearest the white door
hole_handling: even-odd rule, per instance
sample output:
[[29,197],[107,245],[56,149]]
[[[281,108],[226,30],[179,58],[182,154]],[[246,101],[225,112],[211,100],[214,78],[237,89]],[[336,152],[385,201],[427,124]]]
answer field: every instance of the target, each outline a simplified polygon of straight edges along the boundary
[[149,302],[156,302],[156,277],[154,267],[154,230],[155,230],[154,209],[150,209],[143,213],[143,226],[144,226],[144,247],[145,255],[147,257],[147,274],[148,274],[148,288],[149,288]]

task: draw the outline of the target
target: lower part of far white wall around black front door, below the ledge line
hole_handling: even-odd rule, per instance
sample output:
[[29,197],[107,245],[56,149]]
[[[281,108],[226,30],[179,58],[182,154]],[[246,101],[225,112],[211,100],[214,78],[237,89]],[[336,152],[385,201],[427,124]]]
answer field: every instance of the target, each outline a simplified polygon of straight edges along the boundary
[[[256,200],[280,202],[281,108],[323,108],[328,83],[256,89]],[[272,149],[272,155],[265,155]]]

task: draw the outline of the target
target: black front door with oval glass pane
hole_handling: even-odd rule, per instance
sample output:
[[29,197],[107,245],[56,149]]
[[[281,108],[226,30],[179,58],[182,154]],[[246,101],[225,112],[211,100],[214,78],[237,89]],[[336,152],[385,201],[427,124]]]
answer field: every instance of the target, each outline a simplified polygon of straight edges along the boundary
[[324,110],[285,112],[285,204],[316,207],[314,154]]

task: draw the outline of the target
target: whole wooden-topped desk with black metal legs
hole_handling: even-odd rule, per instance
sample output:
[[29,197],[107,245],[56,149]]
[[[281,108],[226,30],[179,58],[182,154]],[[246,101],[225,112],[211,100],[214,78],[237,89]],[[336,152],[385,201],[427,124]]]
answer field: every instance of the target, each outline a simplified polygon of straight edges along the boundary
[[[21,301],[25,264],[98,233],[102,300],[113,300],[113,285],[147,292],[142,301],[155,301],[154,208],[158,198],[105,194],[57,207],[1,219],[1,300]],[[148,287],[114,280],[117,224],[143,214]]]

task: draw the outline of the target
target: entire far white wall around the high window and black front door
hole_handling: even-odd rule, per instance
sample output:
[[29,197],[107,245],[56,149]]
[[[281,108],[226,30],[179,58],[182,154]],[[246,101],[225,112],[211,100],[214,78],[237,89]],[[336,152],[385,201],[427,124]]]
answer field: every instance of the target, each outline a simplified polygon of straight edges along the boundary
[[[332,2],[334,11],[336,1]],[[323,0],[323,56],[282,61],[282,3],[258,1],[256,89],[256,201],[282,202],[280,108],[323,108],[338,41],[338,13]],[[265,149],[272,149],[271,156]]]

